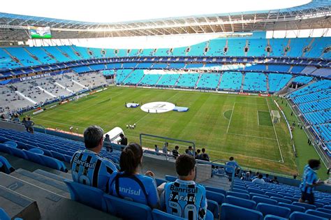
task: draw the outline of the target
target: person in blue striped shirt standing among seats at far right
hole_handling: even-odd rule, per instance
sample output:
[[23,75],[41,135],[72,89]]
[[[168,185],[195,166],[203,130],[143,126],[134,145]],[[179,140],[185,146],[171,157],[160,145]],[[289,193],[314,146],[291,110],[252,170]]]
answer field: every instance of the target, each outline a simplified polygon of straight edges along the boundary
[[300,184],[301,198],[300,203],[308,201],[308,204],[314,205],[314,189],[315,186],[323,184],[318,179],[316,171],[321,168],[321,161],[316,159],[310,159],[308,164],[304,166],[304,172],[302,174],[302,182]]

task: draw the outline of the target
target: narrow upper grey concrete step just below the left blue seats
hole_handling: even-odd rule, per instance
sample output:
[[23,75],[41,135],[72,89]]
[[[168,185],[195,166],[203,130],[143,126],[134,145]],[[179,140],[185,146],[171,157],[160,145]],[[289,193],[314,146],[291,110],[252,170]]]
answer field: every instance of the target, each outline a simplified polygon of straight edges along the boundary
[[58,195],[70,198],[70,192],[66,184],[62,181],[51,179],[45,175],[40,175],[38,173],[31,173],[28,170],[18,169],[13,173],[10,173],[11,176],[17,177],[19,179],[25,180],[36,186],[40,186],[43,189],[57,193]]

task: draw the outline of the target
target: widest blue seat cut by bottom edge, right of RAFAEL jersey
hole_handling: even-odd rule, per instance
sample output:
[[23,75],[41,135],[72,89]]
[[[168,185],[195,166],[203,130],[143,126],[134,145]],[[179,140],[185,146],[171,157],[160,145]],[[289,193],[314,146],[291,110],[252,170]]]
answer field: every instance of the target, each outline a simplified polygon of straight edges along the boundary
[[221,205],[221,219],[233,220],[233,219],[246,219],[246,220],[262,220],[263,215],[256,210],[249,210],[237,205],[231,205],[223,203]]

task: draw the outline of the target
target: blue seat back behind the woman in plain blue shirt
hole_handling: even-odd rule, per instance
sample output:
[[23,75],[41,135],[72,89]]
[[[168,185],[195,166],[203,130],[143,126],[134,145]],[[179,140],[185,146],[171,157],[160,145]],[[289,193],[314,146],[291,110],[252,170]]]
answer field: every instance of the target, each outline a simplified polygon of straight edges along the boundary
[[104,195],[103,198],[105,199],[110,214],[114,214],[122,219],[152,220],[152,210],[147,205],[110,195]]

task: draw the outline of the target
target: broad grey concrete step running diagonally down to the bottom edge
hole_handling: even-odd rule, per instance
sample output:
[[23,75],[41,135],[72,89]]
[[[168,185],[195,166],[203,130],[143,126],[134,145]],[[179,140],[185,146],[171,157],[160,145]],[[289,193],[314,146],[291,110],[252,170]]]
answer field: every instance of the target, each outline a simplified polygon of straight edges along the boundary
[[17,177],[0,173],[0,179],[1,186],[36,200],[41,219],[118,219]]

